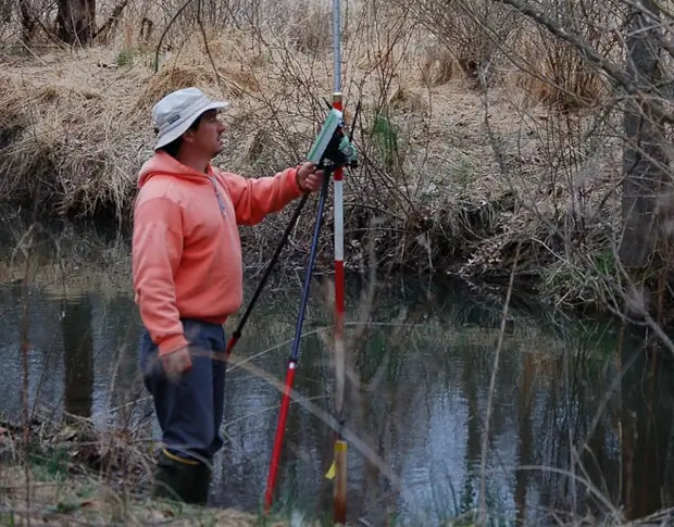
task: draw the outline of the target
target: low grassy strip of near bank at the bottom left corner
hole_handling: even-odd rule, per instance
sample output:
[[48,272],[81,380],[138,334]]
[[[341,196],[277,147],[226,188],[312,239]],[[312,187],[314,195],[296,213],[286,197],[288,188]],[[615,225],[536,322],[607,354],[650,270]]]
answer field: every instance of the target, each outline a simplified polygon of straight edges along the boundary
[[[21,427],[0,424],[2,525],[253,527],[260,523],[258,515],[235,509],[207,510],[141,499],[147,477],[140,475],[149,470],[151,460],[138,438],[104,435],[85,423],[36,429],[27,479]],[[285,527],[288,523],[270,517],[266,525]]]

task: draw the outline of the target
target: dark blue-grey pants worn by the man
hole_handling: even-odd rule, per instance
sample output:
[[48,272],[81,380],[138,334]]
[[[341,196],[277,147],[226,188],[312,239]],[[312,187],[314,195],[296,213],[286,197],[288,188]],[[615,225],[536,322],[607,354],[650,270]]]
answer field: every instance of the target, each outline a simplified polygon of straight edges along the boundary
[[225,331],[217,324],[182,322],[190,348],[211,356],[192,352],[191,369],[177,382],[172,382],[163,374],[157,346],[143,329],[140,368],[154,401],[164,448],[174,455],[210,462],[223,446],[220,428],[225,398]]

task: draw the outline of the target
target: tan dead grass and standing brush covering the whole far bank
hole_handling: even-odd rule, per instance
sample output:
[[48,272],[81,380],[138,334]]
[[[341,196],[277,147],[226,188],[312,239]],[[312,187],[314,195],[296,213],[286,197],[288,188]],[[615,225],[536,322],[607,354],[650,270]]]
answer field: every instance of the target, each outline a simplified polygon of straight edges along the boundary
[[[90,48],[45,42],[0,55],[5,201],[128,223],[151,152],[151,106],[185,86],[234,102],[221,166],[258,176],[302,159],[333,89],[327,10],[259,1],[225,12],[199,2],[176,17],[178,8],[129,2],[116,32]],[[112,10],[101,5],[101,21]],[[583,35],[613,53],[613,35],[596,29],[614,15],[597,13]],[[570,243],[602,253],[620,214],[616,117],[598,104],[608,87],[577,51],[498,3],[458,2],[445,16],[421,0],[345,11],[347,116],[363,104],[361,167],[346,177],[347,265],[362,267],[370,233],[380,267],[502,279],[522,241],[519,280],[560,293],[560,284],[592,272],[570,256]],[[288,214],[242,229],[249,264],[269,256]],[[332,203],[326,214],[319,265],[329,267]],[[311,215],[296,230],[290,264],[304,258]],[[587,300],[584,287],[575,297]]]

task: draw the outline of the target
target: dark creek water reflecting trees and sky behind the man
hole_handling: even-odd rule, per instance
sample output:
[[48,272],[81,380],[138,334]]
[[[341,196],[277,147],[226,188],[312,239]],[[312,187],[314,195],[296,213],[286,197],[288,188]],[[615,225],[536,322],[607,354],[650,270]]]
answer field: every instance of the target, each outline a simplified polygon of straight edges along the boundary
[[[20,237],[4,234],[1,240],[0,414],[21,418],[27,305],[32,411],[50,418],[65,411],[107,427],[130,407],[135,426],[155,435],[138,379],[140,322],[128,241],[72,230],[40,239],[27,281],[25,261],[14,250]],[[248,273],[246,301],[259,274]],[[286,272],[267,286],[234,362],[246,357],[283,379],[302,276],[302,269]],[[599,516],[611,507],[636,517],[671,503],[674,379],[669,352],[657,354],[657,362],[646,352],[645,330],[573,319],[515,298],[491,387],[501,300],[460,283],[389,279],[376,284],[369,318],[359,325],[358,302],[369,281],[350,276],[347,285],[347,337],[354,339],[354,375],[364,382],[360,391],[349,388],[347,426],[372,446],[400,486],[350,444],[351,519],[382,525],[395,515],[439,525],[478,505],[483,476],[487,506],[500,525],[557,524],[565,515]],[[333,412],[334,368],[332,306],[325,306],[319,281],[312,288],[278,495],[313,513],[329,510],[324,475],[332,436],[321,411]],[[237,321],[227,324],[228,332]],[[230,367],[227,441],[216,457],[212,500],[257,511],[279,393],[250,368]]]

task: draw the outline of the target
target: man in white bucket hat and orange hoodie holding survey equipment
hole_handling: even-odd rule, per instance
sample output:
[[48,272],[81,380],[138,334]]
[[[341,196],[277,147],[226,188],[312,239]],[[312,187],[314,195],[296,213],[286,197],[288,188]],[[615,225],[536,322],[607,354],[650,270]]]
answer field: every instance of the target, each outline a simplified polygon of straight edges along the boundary
[[140,365],[164,444],[152,493],[198,504],[207,503],[211,462],[223,444],[223,324],[242,301],[237,225],[317,191],[324,177],[312,163],[261,178],[214,170],[225,130],[219,111],[228,106],[197,88],[157,103],[158,142],[140,170],[134,206]]

